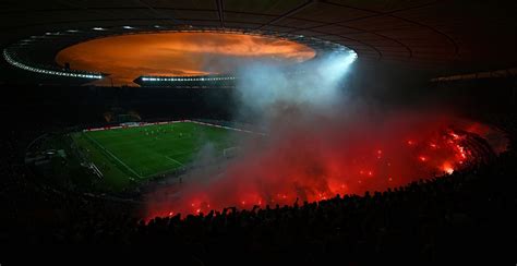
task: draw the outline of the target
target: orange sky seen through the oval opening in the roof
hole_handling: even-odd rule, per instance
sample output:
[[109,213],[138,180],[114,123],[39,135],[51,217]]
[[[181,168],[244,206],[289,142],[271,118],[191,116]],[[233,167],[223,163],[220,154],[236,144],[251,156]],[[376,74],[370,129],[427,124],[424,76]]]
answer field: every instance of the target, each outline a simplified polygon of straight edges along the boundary
[[315,56],[304,45],[223,33],[155,33],[93,39],[61,50],[56,62],[110,74],[95,85],[130,85],[141,75],[205,75],[235,72],[249,62],[286,65]]

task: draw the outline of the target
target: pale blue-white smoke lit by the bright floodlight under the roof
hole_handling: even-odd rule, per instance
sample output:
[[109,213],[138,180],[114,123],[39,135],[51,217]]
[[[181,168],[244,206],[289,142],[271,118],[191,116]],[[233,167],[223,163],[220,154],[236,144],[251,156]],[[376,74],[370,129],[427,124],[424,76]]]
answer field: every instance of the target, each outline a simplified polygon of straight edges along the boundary
[[238,73],[238,98],[258,112],[277,105],[332,110],[342,99],[345,76],[356,59],[356,52],[347,51],[318,56],[294,70],[251,64]]

